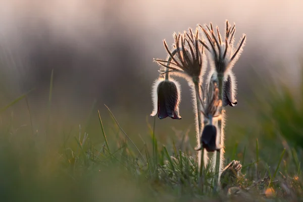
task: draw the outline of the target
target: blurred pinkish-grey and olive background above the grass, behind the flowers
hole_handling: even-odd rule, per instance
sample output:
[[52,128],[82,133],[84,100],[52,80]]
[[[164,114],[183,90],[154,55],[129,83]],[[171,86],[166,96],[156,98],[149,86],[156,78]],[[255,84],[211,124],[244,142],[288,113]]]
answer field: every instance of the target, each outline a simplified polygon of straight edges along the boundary
[[[150,87],[159,67],[153,58],[166,58],[163,39],[172,44],[173,32],[210,22],[223,33],[227,19],[236,23],[236,42],[243,33],[247,36],[233,68],[238,105],[227,109],[227,158],[234,145],[239,154],[244,147],[253,151],[255,145],[249,143],[259,138],[264,149],[261,155],[271,160],[277,150],[268,145],[274,141],[280,150],[288,144],[300,147],[297,144],[303,142],[297,141],[303,117],[302,8],[299,0],[1,1],[0,108],[34,89],[26,99],[1,112],[2,130],[9,139],[14,136],[20,141],[28,137],[22,134],[31,133],[41,142],[52,131],[47,141],[60,145],[64,134],[77,136],[81,125],[81,132],[88,132],[92,142],[100,144],[104,140],[97,110],[109,138],[119,133],[106,104],[122,128],[141,143],[140,138],[147,138],[148,123],[154,121],[149,117]],[[178,80],[182,120],[156,119],[156,135],[165,144],[176,130],[189,129],[194,145],[190,92],[186,82]],[[289,131],[294,137],[283,144],[291,136]]]

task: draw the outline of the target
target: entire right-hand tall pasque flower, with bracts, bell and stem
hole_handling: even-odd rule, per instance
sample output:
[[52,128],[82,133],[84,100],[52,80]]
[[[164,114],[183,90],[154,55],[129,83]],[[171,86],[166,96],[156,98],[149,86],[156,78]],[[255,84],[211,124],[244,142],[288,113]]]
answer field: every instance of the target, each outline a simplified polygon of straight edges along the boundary
[[[200,26],[200,25],[199,25]],[[219,100],[221,100],[223,107],[236,106],[237,101],[235,99],[236,95],[236,83],[235,76],[232,73],[232,67],[235,62],[238,60],[242,47],[244,46],[246,35],[243,34],[242,39],[240,40],[238,47],[234,48],[234,34],[236,31],[235,25],[231,27],[226,21],[226,31],[225,31],[225,40],[220,35],[219,28],[216,27],[217,36],[215,34],[213,25],[211,23],[210,27],[206,25],[206,28],[203,29],[208,44],[204,41],[199,40],[201,44],[203,44],[209,52],[211,71],[208,76],[209,85],[212,83],[218,84],[219,88]],[[218,129],[218,143],[224,146],[224,110],[223,108],[219,108],[219,112],[221,118],[216,121],[214,125],[217,126]],[[214,181],[215,190],[220,183],[220,175],[222,173],[223,168],[223,159],[224,159],[224,150],[218,150],[216,152],[216,156],[214,156],[216,161],[214,162],[215,173],[217,175],[217,180]]]

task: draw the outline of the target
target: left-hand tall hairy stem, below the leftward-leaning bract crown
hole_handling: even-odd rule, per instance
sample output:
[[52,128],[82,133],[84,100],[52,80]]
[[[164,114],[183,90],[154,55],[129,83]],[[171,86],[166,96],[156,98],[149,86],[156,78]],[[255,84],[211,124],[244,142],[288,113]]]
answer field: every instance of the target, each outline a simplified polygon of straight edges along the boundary
[[[196,139],[197,139],[197,148],[201,147],[200,142],[200,135],[203,130],[203,116],[200,113],[201,109],[200,106],[203,105],[203,103],[200,102],[201,97],[201,89],[200,89],[200,79],[195,78],[193,79],[194,84],[194,91],[195,91],[195,98],[196,98],[196,115],[195,115],[195,124],[196,124]],[[200,184],[201,184],[201,190],[203,191],[203,185],[204,185],[204,175],[203,175],[203,167],[204,167],[204,148],[197,151],[198,154],[198,168],[199,168],[199,176],[200,176]]]

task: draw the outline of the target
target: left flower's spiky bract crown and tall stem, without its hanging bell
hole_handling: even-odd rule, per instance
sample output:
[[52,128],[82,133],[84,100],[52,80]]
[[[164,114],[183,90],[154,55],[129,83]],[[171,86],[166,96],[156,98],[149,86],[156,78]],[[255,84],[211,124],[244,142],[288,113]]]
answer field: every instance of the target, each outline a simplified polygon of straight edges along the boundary
[[[169,55],[167,60],[155,59],[158,64],[165,67],[165,70],[160,70],[166,76],[173,74],[176,76],[184,77],[188,85],[192,89],[192,97],[195,98],[193,102],[195,112],[195,126],[196,126],[196,140],[197,147],[200,147],[200,134],[203,130],[203,116],[199,113],[199,98],[200,85],[203,81],[203,75],[207,67],[207,60],[204,54],[204,46],[199,42],[199,33],[196,29],[195,33],[189,29],[188,32],[184,31],[183,34],[174,33],[173,51],[170,51],[167,43],[164,40],[165,49]],[[202,163],[201,150],[198,151],[199,166]]]

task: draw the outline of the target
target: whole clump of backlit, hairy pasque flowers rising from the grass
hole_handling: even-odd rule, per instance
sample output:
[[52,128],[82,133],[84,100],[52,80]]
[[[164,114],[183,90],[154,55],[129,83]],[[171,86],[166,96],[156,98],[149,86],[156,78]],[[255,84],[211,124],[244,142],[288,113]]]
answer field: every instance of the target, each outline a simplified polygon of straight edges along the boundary
[[[217,190],[224,162],[225,111],[223,107],[237,105],[235,76],[231,70],[242,52],[246,36],[243,35],[237,48],[234,48],[235,25],[231,27],[226,21],[225,38],[221,37],[218,27],[217,34],[215,33],[212,23],[210,27],[206,25],[206,28],[201,28],[206,41],[199,36],[198,29],[195,33],[191,29],[182,34],[174,33],[172,50],[166,41],[163,41],[168,57],[166,60],[154,60],[161,66],[160,73],[165,78],[160,75],[153,85],[154,111],[151,116],[158,114],[160,119],[181,118],[179,116],[180,87],[170,75],[184,77],[191,88],[193,98],[200,176],[203,176],[203,168],[206,168],[209,162],[206,151],[212,152],[214,155],[210,162],[213,164],[217,178],[213,186],[214,190]],[[204,53],[204,47],[208,50],[208,57]],[[207,58],[210,61],[211,71],[204,85],[206,88],[204,94],[203,76],[207,67]],[[203,190],[203,183],[201,188]]]

